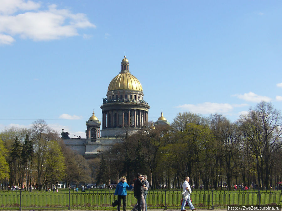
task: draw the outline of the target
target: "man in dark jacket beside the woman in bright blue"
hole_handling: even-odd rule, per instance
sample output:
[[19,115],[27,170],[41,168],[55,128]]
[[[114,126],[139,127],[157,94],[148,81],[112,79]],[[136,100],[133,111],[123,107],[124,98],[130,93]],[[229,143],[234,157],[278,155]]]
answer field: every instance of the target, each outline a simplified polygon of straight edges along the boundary
[[140,173],[138,173],[136,177],[137,179],[134,182],[134,197],[137,198],[137,210],[144,211],[144,208],[145,208],[145,199],[143,195],[144,194],[144,187],[143,187],[144,178],[142,177],[142,174]]

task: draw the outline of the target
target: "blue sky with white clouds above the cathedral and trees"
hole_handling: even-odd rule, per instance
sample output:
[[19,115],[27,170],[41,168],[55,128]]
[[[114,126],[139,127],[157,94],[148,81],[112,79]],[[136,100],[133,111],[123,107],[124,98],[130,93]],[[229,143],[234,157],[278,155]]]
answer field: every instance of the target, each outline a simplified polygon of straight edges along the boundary
[[0,0],[0,131],[44,119],[85,138],[124,52],[149,120],[281,110],[281,25],[281,1]]

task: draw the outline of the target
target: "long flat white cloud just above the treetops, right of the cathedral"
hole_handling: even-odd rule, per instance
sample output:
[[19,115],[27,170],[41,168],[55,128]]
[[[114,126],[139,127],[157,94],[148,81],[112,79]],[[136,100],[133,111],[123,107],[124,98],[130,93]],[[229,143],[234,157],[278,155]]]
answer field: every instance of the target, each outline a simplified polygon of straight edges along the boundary
[[181,108],[182,110],[189,110],[193,113],[226,113],[233,110],[233,106],[229,103],[211,103],[205,102],[200,104],[184,104],[176,106],[176,108]]

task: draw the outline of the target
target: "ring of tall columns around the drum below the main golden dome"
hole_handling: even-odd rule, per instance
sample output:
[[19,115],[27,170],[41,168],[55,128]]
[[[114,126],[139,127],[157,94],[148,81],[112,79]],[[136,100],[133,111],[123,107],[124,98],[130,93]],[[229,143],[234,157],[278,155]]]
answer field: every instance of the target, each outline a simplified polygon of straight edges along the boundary
[[148,122],[148,111],[140,109],[122,109],[122,121],[121,124],[119,124],[119,111],[120,109],[112,109],[102,112],[102,129],[118,127],[140,128],[145,122]]

